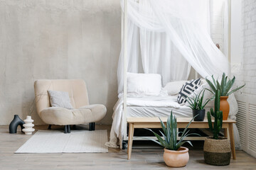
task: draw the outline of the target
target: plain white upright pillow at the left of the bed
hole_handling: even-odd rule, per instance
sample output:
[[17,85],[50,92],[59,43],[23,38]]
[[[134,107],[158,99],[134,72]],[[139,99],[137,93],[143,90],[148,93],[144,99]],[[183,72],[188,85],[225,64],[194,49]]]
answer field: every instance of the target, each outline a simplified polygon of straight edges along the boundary
[[160,91],[160,74],[127,73],[127,93],[159,95]]

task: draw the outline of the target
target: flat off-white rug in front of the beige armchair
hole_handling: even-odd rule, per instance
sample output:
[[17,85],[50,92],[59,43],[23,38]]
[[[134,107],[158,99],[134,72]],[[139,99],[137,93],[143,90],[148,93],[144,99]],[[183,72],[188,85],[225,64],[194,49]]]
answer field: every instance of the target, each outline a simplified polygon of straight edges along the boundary
[[108,152],[107,130],[71,130],[63,133],[38,130],[15,153],[84,153]]

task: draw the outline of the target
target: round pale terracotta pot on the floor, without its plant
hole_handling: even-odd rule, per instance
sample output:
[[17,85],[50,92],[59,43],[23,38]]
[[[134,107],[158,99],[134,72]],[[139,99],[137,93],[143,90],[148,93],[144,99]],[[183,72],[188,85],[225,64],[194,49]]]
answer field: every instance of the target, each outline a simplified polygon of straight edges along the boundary
[[188,163],[188,148],[180,147],[178,150],[164,149],[164,162],[167,166],[182,167]]

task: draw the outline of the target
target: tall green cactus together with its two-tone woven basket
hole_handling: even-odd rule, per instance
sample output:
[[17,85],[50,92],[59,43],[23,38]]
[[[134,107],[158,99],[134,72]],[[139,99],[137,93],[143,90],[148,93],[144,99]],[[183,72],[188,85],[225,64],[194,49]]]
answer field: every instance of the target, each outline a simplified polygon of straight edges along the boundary
[[[212,117],[214,123],[212,122]],[[223,125],[223,111],[220,111],[220,90],[215,93],[215,108],[210,108],[207,113],[208,125],[213,132],[213,137],[206,137],[203,145],[203,156],[206,164],[228,165],[230,164],[231,149],[230,140],[220,137],[219,133]]]

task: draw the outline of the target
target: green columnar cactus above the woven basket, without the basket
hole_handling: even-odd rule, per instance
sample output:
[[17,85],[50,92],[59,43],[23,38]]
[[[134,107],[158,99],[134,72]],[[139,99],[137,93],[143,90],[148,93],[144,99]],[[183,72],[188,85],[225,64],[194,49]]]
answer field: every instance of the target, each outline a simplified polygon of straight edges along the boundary
[[[214,123],[212,123],[210,115],[214,117]],[[210,112],[207,113],[207,118],[210,131],[213,132],[213,139],[218,140],[223,125],[223,112],[220,111],[220,90],[218,89],[215,94],[214,111],[213,108],[210,108]]]

